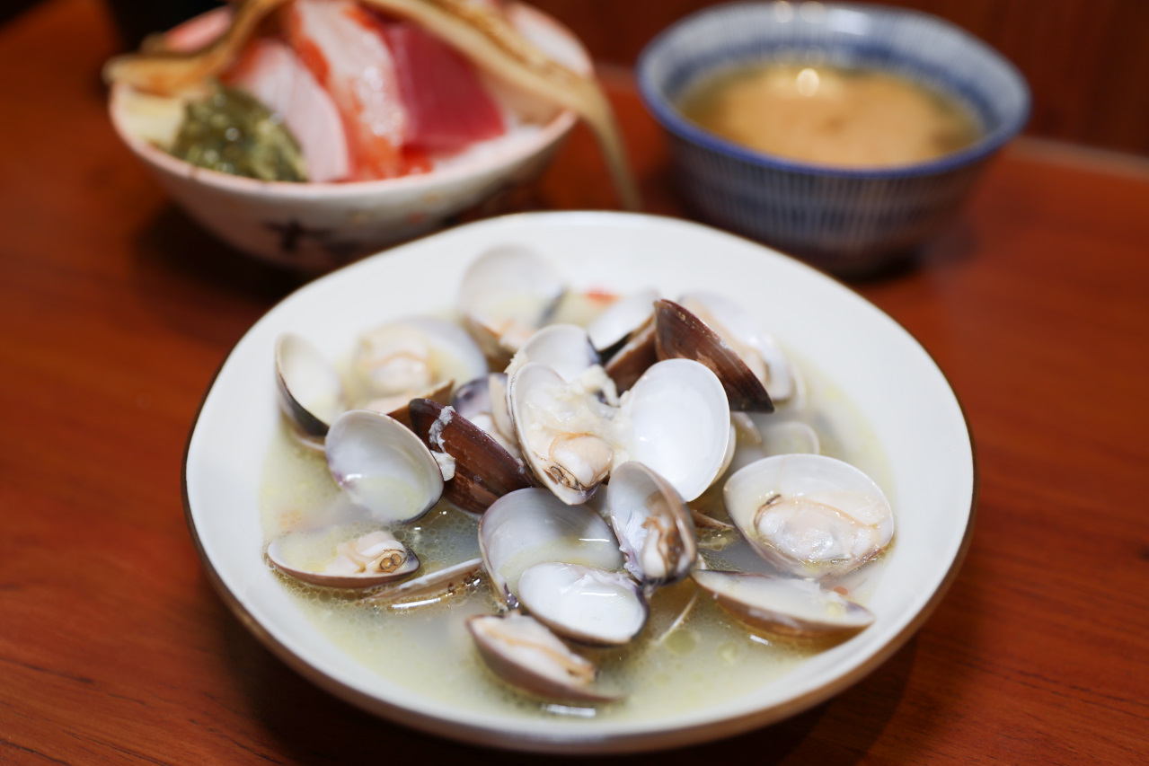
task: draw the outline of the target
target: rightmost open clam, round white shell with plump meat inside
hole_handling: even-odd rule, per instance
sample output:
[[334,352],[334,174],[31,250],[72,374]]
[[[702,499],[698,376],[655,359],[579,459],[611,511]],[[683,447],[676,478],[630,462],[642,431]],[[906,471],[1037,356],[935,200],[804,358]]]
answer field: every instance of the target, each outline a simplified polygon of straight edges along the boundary
[[751,463],[726,480],[723,500],[755,550],[801,577],[855,570],[894,536],[894,513],[881,488],[825,455]]

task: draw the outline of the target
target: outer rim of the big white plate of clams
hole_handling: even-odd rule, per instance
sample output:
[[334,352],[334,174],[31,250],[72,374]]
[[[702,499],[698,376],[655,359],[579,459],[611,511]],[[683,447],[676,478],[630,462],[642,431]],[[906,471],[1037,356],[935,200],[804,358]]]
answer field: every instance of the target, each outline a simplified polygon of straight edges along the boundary
[[[535,212],[535,214],[512,214],[508,216],[501,216],[492,219],[486,219],[483,222],[477,222],[469,224],[466,226],[458,227],[450,232],[453,238],[460,235],[461,230],[470,230],[471,232],[486,232],[487,230],[495,233],[519,233],[523,230],[531,230],[534,226],[548,226],[550,224],[557,224],[560,226],[591,226],[601,227],[603,230],[615,230],[630,229],[630,227],[666,227],[669,230],[679,229],[684,233],[691,232],[702,232],[708,231],[708,237],[716,237],[726,240],[739,240],[753,248],[769,252],[772,257],[778,257],[782,262],[782,265],[787,270],[796,270],[805,273],[816,273],[819,280],[825,280],[827,283],[827,288],[834,289],[841,293],[849,293],[850,296],[848,301],[850,303],[865,304],[866,311],[877,312],[876,316],[880,316],[884,325],[888,325],[896,334],[900,336],[904,335],[905,339],[912,342],[917,351],[920,351],[928,364],[933,366],[938,374],[940,374],[941,380],[944,382],[949,394],[954,397],[954,404],[957,408],[957,415],[961,419],[962,431],[965,438],[969,440],[969,458],[970,458],[970,475],[969,475],[969,508],[967,514],[964,519],[964,525],[961,532],[959,540],[956,541],[954,549],[954,557],[949,562],[944,572],[940,573],[936,588],[932,594],[921,603],[918,611],[902,625],[901,629],[893,634],[881,647],[869,656],[865,660],[859,663],[857,666],[851,668],[849,672],[838,675],[833,681],[819,686],[817,688],[810,689],[807,694],[791,698],[784,704],[773,707],[765,709],[754,709],[743,711],[739,715],[733,715],[728,718],[717,719],[717,720],[702,720],[693,721],[688,726],[684,726],[674,729],[666,728],[654,728],[646,729],[643,727],[638,727],[638,730],[624,730],[624,732],[606,732],[597,734],[584,733],[581,735],[570,736],[562,734],[550,733],[549,735],[542,734],[534,730],[522,730],[518,734],[512,734],[509,730],[504,730],[499,727],[491,727],[484,725],[481,721],[470,720],[462,721],[449,715],[442,714],[440,711],[438,714],[429,714],[425,711],[419,711],[415,707],[400,706],[393,701],[385,699],[383,697],[373,696],[367,694],[364,690],[356,688],[355,684],[348,683],[345,679],[341,680],[336,675],[330,675],[324,672],[317,665],[309,663],[303,656],[296,655],[291,647],[284,643],[273,630],[263,625],[259,618],[253,613],[250,608],[247,605],[246,601],[248,596],[234,590],[234,583],[229,585],[225,581],[225,577],[221,571],[217,570],[215,562],[208,555],[205,548],[205,541],[200,536],[200,528],[195,521],[195,511],[193,510],[193,502],[191,497],[190,477],[188,467],[193,457],[193,446],[195,442],[196,431],[200,425],[200,420],[205,415],[205,408],[207,407],[209,400],[214,396],[218,396],[216,390],[217,382],[224,370],[230,366],[241,349],[249,343],[249,336],[255,332],[255,330],[263,323],[268,322],[268,316],[272,312],[280,310],[280,307],[287,304],[299,294],[310,291],[314,288],[316,283],[309,283],[296,289],[295,292],[285,296],[276,307],[269,309],[261,319],[255,323],[245,333],[245,336],[237,341],[236,346],[228,353],[224,359],[221,362],[219,367],[216,370],[210,384],[205,390],[203,397],[200,401],[200,405],[195,412],[194,419],[188,427],[187,441],[185,442],[184,456],[182,462],[180,471],[180,483],[182,483],[182,495],[183,505],[185,513],[185,521],[188,526],[188,532],[192,537],[192,542],[195,547],[196,554],[200,558],[201,565],[205,568],[207,579],[211,582],[213,587],[219,595],[221,599],[229,608],[229,610],[236,616],[236,618],[252,634],[267,647],[273,655],[285,661],[292,670],[303,675],[306,679],[315,683],[321,689],[324,689],[341,699],[354,704],[372,714],[384,717],[391,721],[411,727],[416,730],[423,732],[425,734],[431,734],[434,736],[441,736],[448,740],[454,740],[456,742],[463,742],[468,744],[478,744],[484,746],[493,746],[507,750],[517,750],[525,752],[553,752],[553,753],[624,753],[634,751],[655,751],[664,750],[669,748],[686,745],[686,744],[699,744],[702,742],[717,740],[722,737],[733,736],[735,734],[741,734],[753,728],[757,728],[768,724],[777,722],[781,719],[788,718],[796,713],[800,713],[816,704],[824,702],[833,695],[840,694],[850,686],[857,683],[863,678],[869,675],[881,664],[884,664],[889,657],[892,657],[912,635],[916,633],[921,625],[928,619],[933,613],[938,604],[941,602],[949,587],[956,579],[964,558],[969,551],[970,544],[972,542],[973,528],[976,525],[977,517],[977,501],[979,495],[979,470],[978,470],[978,458],[977,458],[977,444],[974,441],[973,432],[969,420],[969,416],[965,408],[962,405],[961,400],[957,397],[957,393],[954,390],[953,386],[949,385],[948,378],[944,376],[941,367],[936,364],[933,356],[921,347],[921,345],[913,339],[913,336],[904,328],[900,323],[886,315],[881,309],[865,301],[856,293],[850,291],[848,287],[839,283],[838,280],[828,277],[824,273],[817,272],[815,269],[803,264],[799,261],[789,258],[771,248],[762,246],[753,240],[738,237],[737,234],[731,234],[728,232],[723,232],[715,230],[709,226],[703,226],[693,222],[686,222],[677,218],[669,218],[663,216],[653,215],[639,215],[639,214],[623,214],[623,212],[584,212],[584,211],[570,211],[570,212]],[[435,234],[431,238],[424,238],[416,242],[408,243],[403,246],[403,249],[416,250],[426,247],[427,239],[440,238],[442,234]],[[741,247],[741,246],[739,246]],[[373,258],[368,258],[360,264],[353,264],[352,266],[339,270],[344,272],[344,278],[347,278],[348,273],[358,273],[367,270],[368,261],[377,262],[380,256],[386,256],[388,253],[383,252],[375,256]],[[333,272],[336,273],[336,272]],[[323,281],[323,278],[317,281]],[[809,279],[809,277],[803,277],[803,279]],[[963,498],[964,500],[964,498]],[[961,505],[965,503],[962,502]]]

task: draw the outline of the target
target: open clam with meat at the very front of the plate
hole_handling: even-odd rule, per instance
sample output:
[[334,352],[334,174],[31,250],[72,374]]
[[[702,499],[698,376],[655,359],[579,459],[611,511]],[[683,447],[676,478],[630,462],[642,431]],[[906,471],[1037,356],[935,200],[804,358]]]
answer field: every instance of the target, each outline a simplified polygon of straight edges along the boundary
[[597,668],[576,655],[538,620],[511,612],[466,621],[479,655],[500,679],[547,699],[612,702],[592,688]]

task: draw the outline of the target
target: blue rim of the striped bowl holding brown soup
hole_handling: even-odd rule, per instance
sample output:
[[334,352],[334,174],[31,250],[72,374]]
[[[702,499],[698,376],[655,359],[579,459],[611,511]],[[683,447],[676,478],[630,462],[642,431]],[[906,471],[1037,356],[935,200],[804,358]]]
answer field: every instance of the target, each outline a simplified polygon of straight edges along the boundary
[[943,173],[964,165],[974,164],[981,160],[986,160],[1000,149],[1007,141],[1019,133],[1030,118],[1030,113],[1033,108],[1033,96],[1025,77],[1011,61],[1005,59],[987,42],[965,31],[957,24],[946,21],[940,16],[934,16],[933,14],[863,2],[819,2],[818,5],[825,8],[826,11],[845,9],[863,13],[870,16],[882,16],[888,18],[913,17],[924,23],[931,24],[934,28],[951,32],[964,46],[989,61],[994,67],[1001,69],[1001,71],[1010,80],[1012,80],[1015,85],[1017,85],[1021,98],[1016,114],[1008,116],[995,130],[986,133],[969,147],[944,154],[934,160],[926,160],[909,164],[851,168],[846,165],[828,165],[787,158],[750,149],[720,138],[684,117],[673,105],[663,98],[660,90],[655,87],[650,78],[651,61],[657,55],[665,53],[665,48],[669,45],[669,40],[672,34],[687,29],[702,18],[720,16],[737,11],[738,9],[765,8],[777,5],[779,3],[740,0],[702,8],[684,16],[661,31],[642,48],[634,68],[634,76],[639,86],[639,95],[641,96],[646,108],[664,130],[674,134],[677,138],[699,145],[701,148],[766,170],[781,170],[825,177],[885,180]]

